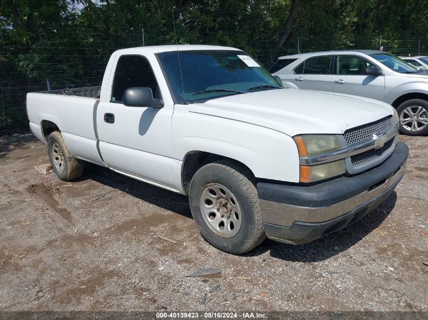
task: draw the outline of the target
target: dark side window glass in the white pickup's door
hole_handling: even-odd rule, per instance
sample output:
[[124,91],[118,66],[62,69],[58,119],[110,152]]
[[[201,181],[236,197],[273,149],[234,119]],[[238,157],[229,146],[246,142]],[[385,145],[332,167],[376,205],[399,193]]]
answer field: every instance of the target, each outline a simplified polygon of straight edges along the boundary
[[127,88],[145,86],[151,88],[155,98],[160,97],[159,86],[150,63],[142,56],[122,56],[114,72],[111,102],[122,102]]

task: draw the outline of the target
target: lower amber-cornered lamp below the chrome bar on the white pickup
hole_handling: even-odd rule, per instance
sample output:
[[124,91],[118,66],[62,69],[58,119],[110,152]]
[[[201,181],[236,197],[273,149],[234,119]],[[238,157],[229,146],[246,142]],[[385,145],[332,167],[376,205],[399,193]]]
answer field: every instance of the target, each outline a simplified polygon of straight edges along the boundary
[[345,161],[338,160],[334,162],[319,164],[319,165],[301,165],[300,166],[300,182],[315,182],[332,178],[345,173]]

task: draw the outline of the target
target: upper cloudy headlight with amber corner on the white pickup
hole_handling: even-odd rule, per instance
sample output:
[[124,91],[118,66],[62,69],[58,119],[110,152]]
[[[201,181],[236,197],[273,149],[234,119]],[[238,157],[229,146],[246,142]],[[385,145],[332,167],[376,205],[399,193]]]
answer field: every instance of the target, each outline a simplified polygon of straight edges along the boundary
[[305,134],[296,135],[293,139],[299,149],[300,157],[316,156],[342,149],[336,135]]

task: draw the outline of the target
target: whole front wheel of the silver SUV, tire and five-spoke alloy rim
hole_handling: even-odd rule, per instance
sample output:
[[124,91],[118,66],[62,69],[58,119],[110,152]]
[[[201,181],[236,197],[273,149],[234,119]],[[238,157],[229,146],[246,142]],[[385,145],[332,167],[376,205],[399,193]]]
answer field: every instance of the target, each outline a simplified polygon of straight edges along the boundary
[[428,101],[411,99],[397,108],[400,118],[400,131],[409,135],[428,133]]

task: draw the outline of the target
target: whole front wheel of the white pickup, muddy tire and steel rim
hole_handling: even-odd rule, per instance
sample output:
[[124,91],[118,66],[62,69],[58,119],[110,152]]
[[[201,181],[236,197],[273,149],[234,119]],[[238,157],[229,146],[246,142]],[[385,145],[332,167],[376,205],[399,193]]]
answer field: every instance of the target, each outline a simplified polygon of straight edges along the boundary
[[190,210],[214,247],[241,254],[266,238],[254,176],[243,165],[219,160],[200,168],[189,187]]

